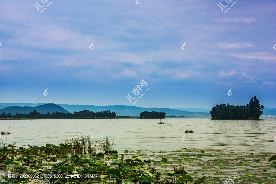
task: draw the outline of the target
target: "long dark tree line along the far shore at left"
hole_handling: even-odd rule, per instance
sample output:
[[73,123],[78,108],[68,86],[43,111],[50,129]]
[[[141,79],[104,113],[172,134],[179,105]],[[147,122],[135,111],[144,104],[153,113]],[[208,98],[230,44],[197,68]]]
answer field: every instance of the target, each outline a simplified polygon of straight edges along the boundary
[[33,110],[29,114],[17,114],[12,115],[11,113],[0,114],[0,119],[103,119],[103,118],[133,118],[129,116],[116,116],[115,112],[111,112],[110,110],[101,111],[101,112],[93,112],[90,110],[82,110],[74,113],[61,113],[61,112],[53,112],[42,114]]

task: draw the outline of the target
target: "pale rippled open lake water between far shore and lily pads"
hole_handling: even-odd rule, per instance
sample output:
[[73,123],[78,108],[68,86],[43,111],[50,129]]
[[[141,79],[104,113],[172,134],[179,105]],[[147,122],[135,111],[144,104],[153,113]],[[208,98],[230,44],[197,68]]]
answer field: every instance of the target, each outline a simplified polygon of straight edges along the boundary
[[[170,118],[170,124],[166,119],[162,120],[165,123],[162,125],[157,124],[159,119],[1,120],[0,131],[11,133],[2,135],[8,143],[20,140],[17,146],[60,144],[72,135],[94,134],[96,139],[106,135],[114,137],[118,151],[172,151],[190,147],[276,152],[275,120]],[[186,129],[194,133],[185,133]],[[182,143],[181,137],[185,134],[186,141]]]

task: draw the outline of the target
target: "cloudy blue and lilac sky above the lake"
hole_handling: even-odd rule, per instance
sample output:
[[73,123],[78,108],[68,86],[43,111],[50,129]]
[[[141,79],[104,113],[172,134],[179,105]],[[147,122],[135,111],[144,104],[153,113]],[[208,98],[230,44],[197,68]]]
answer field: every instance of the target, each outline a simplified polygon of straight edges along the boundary
[[2,1],[0,103],[276,107],[276,2],[226,1]]

